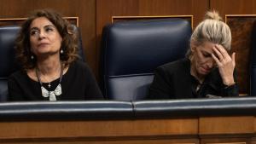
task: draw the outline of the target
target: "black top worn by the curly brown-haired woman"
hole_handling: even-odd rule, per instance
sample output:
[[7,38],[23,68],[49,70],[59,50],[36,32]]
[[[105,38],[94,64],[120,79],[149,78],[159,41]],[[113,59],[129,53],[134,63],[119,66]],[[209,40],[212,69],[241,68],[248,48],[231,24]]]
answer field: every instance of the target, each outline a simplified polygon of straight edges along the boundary
[[[43,83],[45,89],[55,90],[60,78]],[[39,82],[28,77],[25,71],[18,71],[9,77],[9,101],[49,101],[49,97],[42,96]],[[89,66],[80,60],[73,61],[61,79],[62,94],[56,95],[56,100],[97,100],[103,99],[102,92],[96,84],[96,79]]]

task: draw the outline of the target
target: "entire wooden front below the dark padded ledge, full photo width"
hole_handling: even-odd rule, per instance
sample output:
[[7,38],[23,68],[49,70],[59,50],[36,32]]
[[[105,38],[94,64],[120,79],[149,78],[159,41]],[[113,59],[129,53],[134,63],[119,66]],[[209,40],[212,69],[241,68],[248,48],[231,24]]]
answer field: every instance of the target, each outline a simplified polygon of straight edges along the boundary
[[1,121],[0,143],[243,144],[255,141],[253,116]]

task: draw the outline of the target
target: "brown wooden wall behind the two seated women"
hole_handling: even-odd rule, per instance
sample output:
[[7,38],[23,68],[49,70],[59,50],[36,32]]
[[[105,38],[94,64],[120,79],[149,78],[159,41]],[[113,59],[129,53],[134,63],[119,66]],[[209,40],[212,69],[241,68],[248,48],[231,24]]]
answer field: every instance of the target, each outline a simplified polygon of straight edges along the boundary
[[[256,14],[256,0],[0,0],[0,19],[20,18],[33,9],[55,9],[67,17],[79,17],[84,53],[91,69],[98,73],[102,27],[111,23],[112,16],[194,15],[194,27],[208,9],[225,14]],[[1,21],[0,21],[1,22]],[[241,48],[242,49],[242,48]],[[247,57],[244,53],[239,55]],[[236,49],[237,50],[237,49]],[[241,60],[245,61],[245,60]],[[237,61],[238,67],[247,66]],[[240,72],[241,93],[247,93],[247,72]]]

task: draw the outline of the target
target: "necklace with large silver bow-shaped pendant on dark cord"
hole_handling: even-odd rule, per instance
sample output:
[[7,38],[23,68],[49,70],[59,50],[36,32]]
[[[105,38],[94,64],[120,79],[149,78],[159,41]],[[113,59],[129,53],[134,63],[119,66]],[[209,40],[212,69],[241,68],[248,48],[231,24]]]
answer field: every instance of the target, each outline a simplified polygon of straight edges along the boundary
[[[42,90],[42,95],[43,97],[49,97],[49,101],[56,101],[56,95],[61,95],[62,94],[62,89],[61,89],[61,79],[63,76],[63,67],[61,65],[61,76],[60,76],[60,81],[55,90],[53,91],[48,91],[47,89],[44,88],[41,79],[39,77],[39,72],[38,72],[38,67],[36,67],[36,73],[38,77],[38,82],[41,85],[41,90]],[[48,87],[50,87],[50,83],[48,84]]]

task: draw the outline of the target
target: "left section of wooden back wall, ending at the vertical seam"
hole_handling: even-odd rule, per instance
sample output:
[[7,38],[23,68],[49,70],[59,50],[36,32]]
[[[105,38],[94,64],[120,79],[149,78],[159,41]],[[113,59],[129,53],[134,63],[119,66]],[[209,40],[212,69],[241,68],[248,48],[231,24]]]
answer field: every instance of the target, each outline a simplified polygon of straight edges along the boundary
[[34,9],[55,9],[79,17],[86,60],[96,72],[96,0],[0,0],[0,19],[27,17]]

